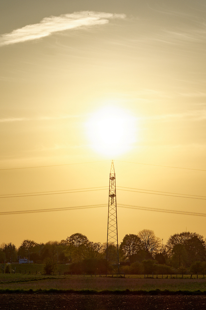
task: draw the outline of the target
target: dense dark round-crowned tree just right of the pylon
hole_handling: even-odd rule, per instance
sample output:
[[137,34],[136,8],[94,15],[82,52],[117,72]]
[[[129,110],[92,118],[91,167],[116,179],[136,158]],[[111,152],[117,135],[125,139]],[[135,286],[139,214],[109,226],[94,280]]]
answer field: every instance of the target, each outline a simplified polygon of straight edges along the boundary
[[130,260],[130,263],[133,263],[134,255],[141,249],[143,249],[143,244],[140,238],[134,234],[125,235],[119,246],[119,250],[125,258]]

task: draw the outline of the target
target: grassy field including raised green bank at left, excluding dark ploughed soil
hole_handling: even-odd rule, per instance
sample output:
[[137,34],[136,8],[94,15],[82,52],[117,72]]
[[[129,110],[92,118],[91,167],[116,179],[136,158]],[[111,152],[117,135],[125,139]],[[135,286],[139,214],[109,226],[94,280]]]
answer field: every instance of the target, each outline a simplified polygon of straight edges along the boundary
[[[43,274],[41,264],[11,265],[14,273],[0,273],[0,291],[3,292],[68,292],[93,291],[117,292],[126,291],[156,291],[170,292],[205,292],[206,277],[203,275],[71,275],[68,265],[58,265],[56,274],[47,276]],[[145,278],[144,278],[145,277]],[[159,292],[160,293],[160,292]]]

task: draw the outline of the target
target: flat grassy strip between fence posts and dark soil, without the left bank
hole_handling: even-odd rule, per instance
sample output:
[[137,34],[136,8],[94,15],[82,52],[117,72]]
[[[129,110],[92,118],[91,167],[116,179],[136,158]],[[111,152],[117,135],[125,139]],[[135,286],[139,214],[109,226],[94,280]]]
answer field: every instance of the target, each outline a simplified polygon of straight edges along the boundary
[[[77,275],[55,275],[45,276],[39,274],[0,274],[0,290],[169,290],[169,291],[206,291],[206,279],[186,278],[143,278],[138,276],[125,275],[124,277],[112,276],[77,276]],[[3,291],[2,291],[3,290]]]

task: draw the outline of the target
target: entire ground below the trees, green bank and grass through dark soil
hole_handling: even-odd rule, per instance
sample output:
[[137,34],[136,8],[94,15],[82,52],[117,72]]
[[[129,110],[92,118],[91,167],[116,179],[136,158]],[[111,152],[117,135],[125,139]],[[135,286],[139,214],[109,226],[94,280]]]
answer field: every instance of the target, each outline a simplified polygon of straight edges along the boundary
[[[12,266],[13,267],[13,266]],[[21,269],[18,269],[18,268]],[[46,276],[42,265],[0,273],[0,310],[205,310],[206,278],[193,275]],[[19,273],[19,270],[21,273]],[[60,275],[59,275],[60,271]],[[29,273],[30,272],[30,273]],[[36,274],[37,272],[37,274]],[[41,273],[40,273],[41,272]]]

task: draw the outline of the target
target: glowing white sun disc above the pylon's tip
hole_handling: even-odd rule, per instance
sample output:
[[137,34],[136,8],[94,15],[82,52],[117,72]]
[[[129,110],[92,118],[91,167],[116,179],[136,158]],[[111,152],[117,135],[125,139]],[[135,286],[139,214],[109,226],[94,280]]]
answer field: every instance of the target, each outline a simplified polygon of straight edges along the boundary
[[90,115],[86,127],[92,148],[106,156],[125,153],[136,141],[136,119],[127,109],[100,108]]

